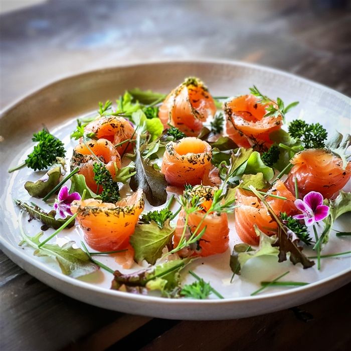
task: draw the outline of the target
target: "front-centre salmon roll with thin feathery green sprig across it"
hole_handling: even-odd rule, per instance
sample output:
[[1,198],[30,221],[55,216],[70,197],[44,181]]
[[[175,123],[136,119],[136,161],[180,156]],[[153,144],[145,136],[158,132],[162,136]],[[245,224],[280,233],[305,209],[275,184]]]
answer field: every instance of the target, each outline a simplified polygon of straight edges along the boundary
[[[229,246],[229,225],[228,217],[226,213],[210,213],[205,219],[205,213],[208,211],[212,205],[213,193],[217,188],[212,188],[209,186],[196,186],[193,188],[192,193],[198,195],[201,199],[204,199],[202,207],[204,211],[194,212],[188,216],[187,230],[185,232],[185,237],[189,238],[191,232],[194,233],[196,228],[200,225],[197,230],[197,234],[206,227],[204,235],[199,240],[199,245],[194,245],[194,247],[188,247],[181,250],[179,253],[182,257],[200,255],[202,257],[221,254],[228,249]],[[185,211],[184,209],[180,212],[177,221],[177,228],[173,235],[173,247],[177,247],[179,244],[185,226]]]

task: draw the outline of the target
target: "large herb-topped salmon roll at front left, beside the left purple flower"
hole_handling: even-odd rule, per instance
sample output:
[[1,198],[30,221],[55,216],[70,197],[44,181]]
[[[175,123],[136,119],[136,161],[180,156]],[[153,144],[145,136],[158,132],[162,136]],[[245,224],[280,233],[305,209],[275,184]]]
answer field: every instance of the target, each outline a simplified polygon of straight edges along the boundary
[[116,204],[87,199],[74,201],[71,205],[72,213],[77,213],[85,241],[97,251],[129,248],[129,237],[134,233],[143,209],[141,189]]

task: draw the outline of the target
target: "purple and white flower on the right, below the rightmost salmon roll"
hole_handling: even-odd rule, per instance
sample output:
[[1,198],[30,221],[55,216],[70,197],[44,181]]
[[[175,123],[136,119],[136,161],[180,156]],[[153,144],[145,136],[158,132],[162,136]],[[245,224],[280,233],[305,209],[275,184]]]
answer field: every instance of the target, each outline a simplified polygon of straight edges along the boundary
[[303,197],[303,201],[295,200],[295,206],[302,214],[293,216],[293,218],[305,220],[306,226],[323,220],[329,213],[329,207],[323,205],[322,194],[317,192],[309,192]]

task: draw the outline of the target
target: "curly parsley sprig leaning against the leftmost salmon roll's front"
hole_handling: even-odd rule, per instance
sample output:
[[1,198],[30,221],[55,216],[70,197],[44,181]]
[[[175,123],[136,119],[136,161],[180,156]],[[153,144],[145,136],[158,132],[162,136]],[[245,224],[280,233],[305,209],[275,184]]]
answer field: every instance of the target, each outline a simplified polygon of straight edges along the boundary
[[120,200],[118,183],[114,182],[111,173],[104,164],[95,162],[93,165],[94,181],[97,186],[102,186],[101,200],[116,203]]

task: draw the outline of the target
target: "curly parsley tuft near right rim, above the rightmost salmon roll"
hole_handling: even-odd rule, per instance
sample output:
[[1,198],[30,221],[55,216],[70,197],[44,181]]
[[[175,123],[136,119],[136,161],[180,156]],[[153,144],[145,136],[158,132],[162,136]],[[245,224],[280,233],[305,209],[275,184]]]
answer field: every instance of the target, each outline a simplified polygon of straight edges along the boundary
[[288,127],[289,134],[293,138],[303,141],[306,149],[323,148],[328,133],[319,123],[308,124],[301,119],[293,120]]

